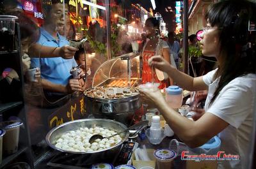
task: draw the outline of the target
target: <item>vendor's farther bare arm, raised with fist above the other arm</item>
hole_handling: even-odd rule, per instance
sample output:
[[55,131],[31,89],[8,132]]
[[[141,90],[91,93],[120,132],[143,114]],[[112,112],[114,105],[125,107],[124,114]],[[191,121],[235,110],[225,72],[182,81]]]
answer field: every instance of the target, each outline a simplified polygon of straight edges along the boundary
[[150,66],[164,71],[170,78],[173,79],[183,89],[188,91],[204,91],[208,89],[208,86],[204,83],[202,77],[190,77],[185,73],[174,68],[169,62],[165,61],[161,56],[154,56],[148,60]]

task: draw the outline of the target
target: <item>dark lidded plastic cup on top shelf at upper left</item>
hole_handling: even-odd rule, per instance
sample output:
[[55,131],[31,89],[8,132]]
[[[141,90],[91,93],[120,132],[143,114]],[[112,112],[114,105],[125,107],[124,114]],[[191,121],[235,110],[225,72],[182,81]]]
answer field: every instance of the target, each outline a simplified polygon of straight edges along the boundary
[[12,15],[0,15],[0,51],[13,51],[15,20],[17,18]]

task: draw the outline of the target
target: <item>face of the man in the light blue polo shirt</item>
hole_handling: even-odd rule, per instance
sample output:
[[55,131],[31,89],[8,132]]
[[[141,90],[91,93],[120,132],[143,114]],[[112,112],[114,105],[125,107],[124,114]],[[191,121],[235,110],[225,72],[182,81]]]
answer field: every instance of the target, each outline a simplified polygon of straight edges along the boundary
[[52,29],[61,30],[65,26],[65,18],[68,17],[68,5],[65,4],[65,12],[63,11],[63,4],[52,4],[52,9],[46,16],[46,24],[51,25]]

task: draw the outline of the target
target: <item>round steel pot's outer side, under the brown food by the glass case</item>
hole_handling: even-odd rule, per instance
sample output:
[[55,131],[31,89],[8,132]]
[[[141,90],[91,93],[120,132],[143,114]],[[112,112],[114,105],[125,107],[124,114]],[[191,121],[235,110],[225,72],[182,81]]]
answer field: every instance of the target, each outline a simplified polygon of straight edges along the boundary
[[85,95],[86,112],[96,118],[115,119],[129,126],[141,107],[140,94],[120,99],[99,99]]

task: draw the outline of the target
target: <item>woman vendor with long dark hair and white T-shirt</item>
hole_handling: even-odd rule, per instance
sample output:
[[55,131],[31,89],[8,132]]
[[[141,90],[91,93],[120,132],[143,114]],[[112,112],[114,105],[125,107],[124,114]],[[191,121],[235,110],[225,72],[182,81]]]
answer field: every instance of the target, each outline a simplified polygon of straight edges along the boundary
[[[213,4],[207,14],[200,47],[214,56],[218,68],[203,77],[189,77],[175,70],[162,57],[152,57],[150,66],[165,71],[189,91],[208,90],[205,112],[195,121],[168,107],[159,91],[145,92],[143,99],[156,105],[164,119],[189,147],[198,147],[215,135],[221,151],[239,155],[237,161],[218,161],[218,168],[245,168],[256,101],[256,4],[228,0]],[[254,24],[254,27],[253,27]]]

